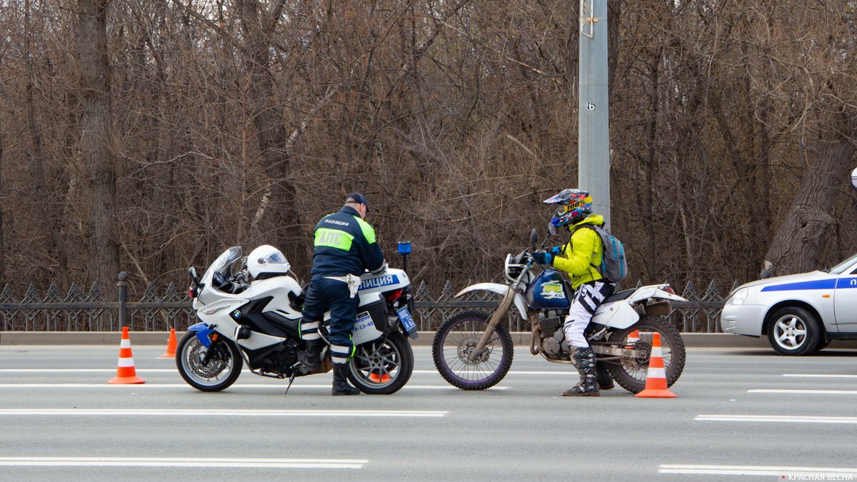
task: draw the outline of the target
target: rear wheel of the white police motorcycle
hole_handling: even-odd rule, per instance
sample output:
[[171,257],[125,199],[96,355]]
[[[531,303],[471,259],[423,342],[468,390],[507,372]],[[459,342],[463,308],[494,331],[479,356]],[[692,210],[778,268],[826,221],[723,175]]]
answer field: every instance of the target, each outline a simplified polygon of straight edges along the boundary
[[384,340],[357,346],[348,368],[348,379],[364,394],[394,394],[411,379],[414,351],[397,331]]

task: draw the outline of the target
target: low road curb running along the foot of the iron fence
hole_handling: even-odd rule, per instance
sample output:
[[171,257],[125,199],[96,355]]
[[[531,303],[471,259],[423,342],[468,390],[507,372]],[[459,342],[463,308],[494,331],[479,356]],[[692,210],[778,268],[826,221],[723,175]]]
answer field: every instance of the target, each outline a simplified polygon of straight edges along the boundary
[[[430,346],[434,338],[433,331],[421,331],[417,340],[411,340],[414,346]],[[118,345],[120,332],[111,331],[3,331],[0,332],[0,346],[7,345]],[[181,334],[179,334],[181,336]],[[767,338],[752,338],[728,333],[683,333],[685,345],[710,348],[769,348]],[[131,335],[134,345],[166,346],[170,337],[168,331],[135,332]],[[530,346],[530,333],[512,332],[512,341],[517,346]],[[832,348],[857,348],[857,340],[835,340]]]

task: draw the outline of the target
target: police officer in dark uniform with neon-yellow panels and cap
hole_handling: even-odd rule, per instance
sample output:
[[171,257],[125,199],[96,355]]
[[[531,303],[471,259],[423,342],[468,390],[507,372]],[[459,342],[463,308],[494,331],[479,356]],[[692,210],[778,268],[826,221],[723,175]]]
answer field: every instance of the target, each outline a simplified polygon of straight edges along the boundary
[[318,330],[325,311],[330,310],[333,395],[360,393],[346,377],[346,364],[354,354],[351,332],[357,322],[357,288],[366,270],[376,274],[387,268],[384,253],[375,241],[375,229],[363,220],[368,211],[366,197],[355,192],[345,198],[339,213],[328,214],[315,226],[312,279],[301,318],[301,338],[307,349],[298,353],[298,359],[310,371],[319,370],[324,342]]

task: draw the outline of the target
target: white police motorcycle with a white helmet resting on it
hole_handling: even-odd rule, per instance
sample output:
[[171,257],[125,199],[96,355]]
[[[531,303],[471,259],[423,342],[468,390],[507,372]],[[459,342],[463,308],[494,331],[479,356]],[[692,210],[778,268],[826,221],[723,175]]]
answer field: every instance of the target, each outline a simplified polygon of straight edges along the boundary
[[[295,377],[313,374],[297,359],[305,349],[298,328],[305,292],[289,275],[285,256],[273,251],[277,272],[258,274],[252,281],[240,246],[225,250],[201,279],[195,268],[189,269],[189,292],[201,322],[179,340],[176,365],[195,389],[226,389],[235,383],[244,363],[255,375],[288,379],[290,386]],[[408,340],[417,337],[411,281],[404,270],[395,268],[361,278],[352,334],[356,352],[349,360],[348,378],[363,393],[393,394],[405,386],[414,368]],[[321,324],[322,339],[327,340],[329,312]],[[321,372],[332,367],[325,347]]]

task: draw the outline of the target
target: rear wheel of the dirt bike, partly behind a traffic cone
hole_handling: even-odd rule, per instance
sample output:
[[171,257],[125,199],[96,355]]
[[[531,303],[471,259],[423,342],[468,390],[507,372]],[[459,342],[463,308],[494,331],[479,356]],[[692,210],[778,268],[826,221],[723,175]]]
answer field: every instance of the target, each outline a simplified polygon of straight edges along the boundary
[[[638,332],[638,340],[628,340],[628,335],[634,331]],[[610,334],[611,343],[626,343],[635,349],[651,350],[652,334],[661,334],[661,351],[663,352],[663,366],[667,375],[667,385],[672,386],[681,377],[685,369],[687,353],[685,341],[681,339],[679,330],[662,318],[645,316],[634,323],[631,327],[614,331]],[[649,358],[620,358],[618,362],[607,362],[607,371],[610,376],[623,388],[632,394],[638,394],[645,389],[645,380],[648,377]]]

